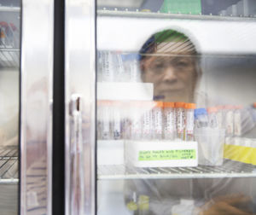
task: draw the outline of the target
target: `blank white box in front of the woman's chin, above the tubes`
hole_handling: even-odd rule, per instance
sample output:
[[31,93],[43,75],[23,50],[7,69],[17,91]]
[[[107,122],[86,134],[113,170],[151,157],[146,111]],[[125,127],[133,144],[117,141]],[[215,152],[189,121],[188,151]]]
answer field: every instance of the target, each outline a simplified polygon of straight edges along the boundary
[[152,101],[153,93],[152,83],[97,83],[98,100]]

